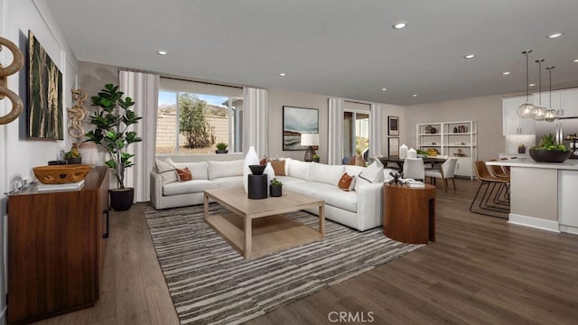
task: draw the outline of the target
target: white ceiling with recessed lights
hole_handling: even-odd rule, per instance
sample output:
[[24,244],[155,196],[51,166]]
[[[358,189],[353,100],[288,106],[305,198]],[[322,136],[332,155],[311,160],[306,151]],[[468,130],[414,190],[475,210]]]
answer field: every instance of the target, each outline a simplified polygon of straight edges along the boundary
[[45,2],[79,60],[191,79],[406,106],[523,93],[531,49],[531,82],[578,80],[576,0]]

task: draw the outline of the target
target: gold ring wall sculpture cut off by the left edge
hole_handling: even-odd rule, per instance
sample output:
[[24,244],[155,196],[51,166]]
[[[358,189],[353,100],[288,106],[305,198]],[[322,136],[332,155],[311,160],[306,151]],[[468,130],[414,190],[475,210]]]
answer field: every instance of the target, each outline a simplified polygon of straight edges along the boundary
[[22,51],[18,49],[18,46],[14,42],[10,42],[4,37],[0,37],[0,51],[2,51],[2,46],[5,46],[9,51],[12,52],[12,63],[7,67],[3,67],[0,64],[0,99],[8,98],[12,103],[12,109],[5,116],[0,116],[0,125],[8,124],[14,121],[23,110],[22,99],[14,91],[8,89],[8,76],[13,75],[22,69],[24,64],[24,56]]

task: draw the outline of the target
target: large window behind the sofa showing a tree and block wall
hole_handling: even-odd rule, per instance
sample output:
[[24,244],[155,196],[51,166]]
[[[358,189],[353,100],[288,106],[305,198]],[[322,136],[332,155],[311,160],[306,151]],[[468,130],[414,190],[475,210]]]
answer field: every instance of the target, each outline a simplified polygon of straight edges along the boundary
[[172,82],[173,89],[159,91],[156,153],[215,153],[219,143],[227,144],[229,153],[242,151],[243,98],[191,91],[192,82],[180,82],[184,85]]

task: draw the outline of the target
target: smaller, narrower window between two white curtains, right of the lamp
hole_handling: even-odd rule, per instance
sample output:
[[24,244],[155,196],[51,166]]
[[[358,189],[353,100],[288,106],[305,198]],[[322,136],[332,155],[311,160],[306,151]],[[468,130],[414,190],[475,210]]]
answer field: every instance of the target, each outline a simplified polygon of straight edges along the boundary
[[344,103],[343,112],[343,158],[356,153],[368,160],[369,151],[369,106],[359,103]]

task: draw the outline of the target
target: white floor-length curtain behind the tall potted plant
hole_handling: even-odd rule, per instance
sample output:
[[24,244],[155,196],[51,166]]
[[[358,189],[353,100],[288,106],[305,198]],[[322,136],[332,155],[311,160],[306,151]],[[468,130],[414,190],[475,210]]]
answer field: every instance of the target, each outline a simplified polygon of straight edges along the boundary
[[143,72],[120,70],[120,90],[135,101],[135,113],[143,119],[131,125],[143,142],[131,144],[129,153],[134,153],[135,165],[126,172],[125,186],[135,188],[135,201],[151,200],[150,173],[154,168],[156,144],[156,111],[159,97],[159,76]]

